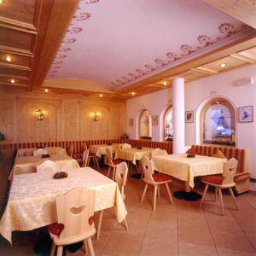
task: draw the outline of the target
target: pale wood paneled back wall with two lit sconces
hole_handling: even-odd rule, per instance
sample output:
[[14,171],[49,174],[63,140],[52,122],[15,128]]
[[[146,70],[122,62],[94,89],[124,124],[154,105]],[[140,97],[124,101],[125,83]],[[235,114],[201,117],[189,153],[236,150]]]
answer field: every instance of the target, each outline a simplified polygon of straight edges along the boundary
[[[119,138],[125,132],[125,103],[79,96],[0,92],[4,143]],[[44,120],[35,111],[45,111]],[[93,121],[92,114],[99,113]]]

